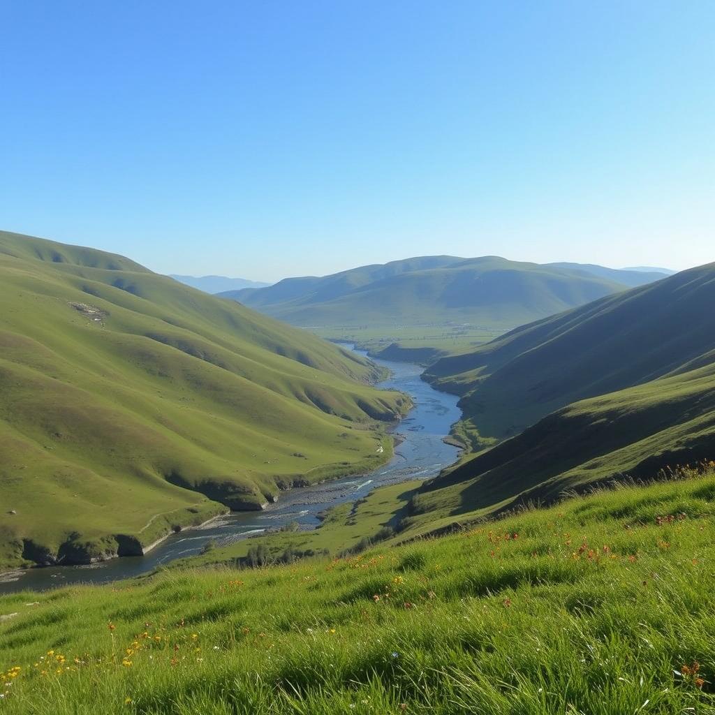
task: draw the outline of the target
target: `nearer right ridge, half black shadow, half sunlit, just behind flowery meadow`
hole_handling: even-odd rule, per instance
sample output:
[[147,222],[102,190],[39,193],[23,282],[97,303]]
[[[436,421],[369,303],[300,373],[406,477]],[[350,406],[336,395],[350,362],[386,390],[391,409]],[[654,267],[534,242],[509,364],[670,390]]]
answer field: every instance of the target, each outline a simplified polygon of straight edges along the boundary
[[420,488],[410,518],[488,514],[715,455],[715,363],[568,405]]

